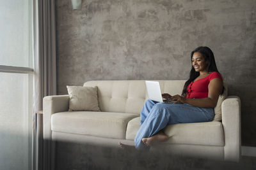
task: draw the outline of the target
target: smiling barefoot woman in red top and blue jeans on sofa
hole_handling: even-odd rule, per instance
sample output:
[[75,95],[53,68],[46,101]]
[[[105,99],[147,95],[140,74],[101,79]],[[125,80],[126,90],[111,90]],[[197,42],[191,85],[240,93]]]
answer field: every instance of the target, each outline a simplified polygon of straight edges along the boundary
[[[199,46],[191,52],[192,68],[182,95],[162,94],[175,103],[157,103],[148,100],[141,111],[141,127],[134,138],[135,148],[148,149],[168,136],[162,131],[168,124],[209,122],[214,117],[214,107],[223,93],[223,79],[218,72],[212,50]],[[131,147],[119,143],[126,148]]]

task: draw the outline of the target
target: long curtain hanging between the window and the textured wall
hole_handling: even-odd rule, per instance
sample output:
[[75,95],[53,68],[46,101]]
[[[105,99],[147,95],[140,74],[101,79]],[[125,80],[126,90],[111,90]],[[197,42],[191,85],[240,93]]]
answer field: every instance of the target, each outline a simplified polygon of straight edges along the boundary
[[[43,97],[56,95],[55,0],[33,0],[33,111]],[[52,169],[51,141],[43,139],[43,115],[34,115],[33,169]]]

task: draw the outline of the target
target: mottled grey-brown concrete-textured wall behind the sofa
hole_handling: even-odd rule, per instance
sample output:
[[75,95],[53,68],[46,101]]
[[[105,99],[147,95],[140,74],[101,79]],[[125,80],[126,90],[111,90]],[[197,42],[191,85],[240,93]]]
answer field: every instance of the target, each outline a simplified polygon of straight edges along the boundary
[[255,0],[56,0],[58,94],[89,80],[187,80],[209,46],[241,97],[242,142],[256,146]]

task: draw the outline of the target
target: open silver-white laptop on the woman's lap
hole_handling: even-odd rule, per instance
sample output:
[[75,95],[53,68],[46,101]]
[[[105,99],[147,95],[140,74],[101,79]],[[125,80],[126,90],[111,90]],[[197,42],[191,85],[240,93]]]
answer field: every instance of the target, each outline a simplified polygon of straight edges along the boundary
[[175,101],[163,100],[160,85],[158,81],[145,81],[148,92],[148,99],[161,103],[174,103]]

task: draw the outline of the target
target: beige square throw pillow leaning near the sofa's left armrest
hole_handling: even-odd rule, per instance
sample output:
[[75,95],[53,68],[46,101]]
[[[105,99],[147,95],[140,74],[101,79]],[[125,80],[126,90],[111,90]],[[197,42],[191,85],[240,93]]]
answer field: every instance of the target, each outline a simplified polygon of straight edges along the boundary
[[97,86],[67,86],[69,95],[69,111],[100,111]]

